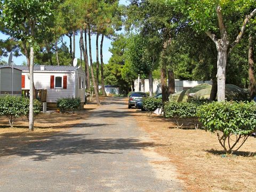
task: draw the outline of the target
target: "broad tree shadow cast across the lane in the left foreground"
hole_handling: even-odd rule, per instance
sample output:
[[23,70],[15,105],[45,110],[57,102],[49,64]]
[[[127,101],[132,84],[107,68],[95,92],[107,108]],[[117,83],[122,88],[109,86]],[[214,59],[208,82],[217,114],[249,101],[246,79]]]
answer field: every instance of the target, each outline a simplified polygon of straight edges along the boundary
[[[52,135],[39,133],[29,135],[29,141],[17,142],[17,135],[4,133],[1,140],[8,145],[2,146],[0,157],[18,155],[30,157],[34,161],[49,161],[56,156],[77,154],[122,154],[122,150],[143,149],[155,146],[134,138],[87,138],[90,134],[59,132]],[[1,143],[0,143],[1,144]]]

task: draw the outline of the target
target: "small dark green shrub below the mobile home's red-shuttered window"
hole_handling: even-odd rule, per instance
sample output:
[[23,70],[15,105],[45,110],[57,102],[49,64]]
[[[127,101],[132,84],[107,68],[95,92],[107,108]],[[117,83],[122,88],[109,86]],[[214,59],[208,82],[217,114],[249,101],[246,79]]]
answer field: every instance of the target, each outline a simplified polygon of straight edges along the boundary
[[60,98],[57,100],[57,107],[60,108],[62,114],[73,111],[73,113],[79,108],[81,105],[80,98]]

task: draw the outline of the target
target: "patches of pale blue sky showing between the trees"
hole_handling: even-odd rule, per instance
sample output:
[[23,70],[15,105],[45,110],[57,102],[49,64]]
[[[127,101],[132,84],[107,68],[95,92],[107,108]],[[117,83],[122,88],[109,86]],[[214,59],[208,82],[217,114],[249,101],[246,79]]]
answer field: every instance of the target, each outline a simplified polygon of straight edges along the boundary
[[[127,1],[126,0],[120,0],[119,4],[124,4],[127,5]],[[122,32],[122,31],[121,31]],[[120,33],[120,32],[119,32]],[[0,39],[7,39],[8,36],[0,33]],[[87,38],[88,39],[88,38]],[[99,43],[100,43],[100,39],[99,38]],[[65,42],[67,42],[67,46],[69,47],[69,38],[65,35],[63,37],[63,40]],[[111,47],[111,39],[108,38],[104,38],[104,42],[103,42],[103,62],[104,63],[108,63],[109,58],[111,57],[112,53],[109,52],[109,48]],[[80,49],[79,49],[79,35],[76,36],[76,50],[75,50],[75,57],[76,58],[80,58]],[[3,57],[1,58],[2,60],[8,62],[8,57]],[[26,57],[25,55],[22,55],[20,57],[13,57],[13,62],[15,65],[22,65],[22,62],[25,61],[26,62]],[[92,60],[93,62],[96,61],[96,35],[92,35]],[[41,63],[40,63],[41,64]],[[43,65],[43,63],[42,63]],[[56,64],[57,65],[57,64]]]

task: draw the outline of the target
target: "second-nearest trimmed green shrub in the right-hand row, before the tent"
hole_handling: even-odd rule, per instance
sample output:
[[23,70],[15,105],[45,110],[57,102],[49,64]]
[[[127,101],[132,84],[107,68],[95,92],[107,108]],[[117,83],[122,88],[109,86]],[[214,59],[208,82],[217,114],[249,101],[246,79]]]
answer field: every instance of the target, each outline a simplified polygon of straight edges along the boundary
[[195,118],[197,115],[198,105],[194,103],[188,102],[176,102],[169,101],[164,105],[164,117],[165,118],[174,118],[177,124],[177,127],[181,127],[179,125],[179,120],[181,118]]

